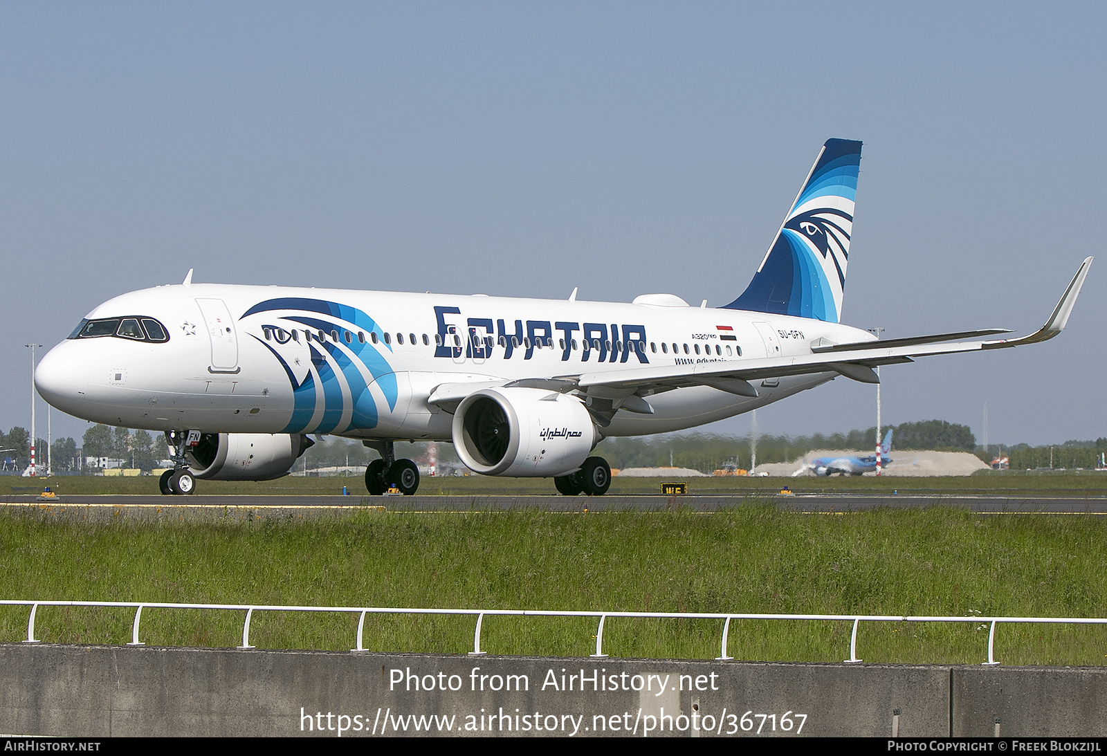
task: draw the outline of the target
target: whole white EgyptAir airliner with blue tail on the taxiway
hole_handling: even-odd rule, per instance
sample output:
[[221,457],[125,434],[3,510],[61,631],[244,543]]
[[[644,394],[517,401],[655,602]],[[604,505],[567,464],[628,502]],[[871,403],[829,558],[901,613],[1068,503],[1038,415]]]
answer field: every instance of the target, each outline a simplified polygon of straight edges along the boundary
[[[589,456],[604,436],[690,428],[844,375],[928,354],[1015,346],[1065,328],[1092,258],[1046,324],[877,341],[838,322],[861,143],[829,139],[745,292],[721,308],[673,294],[631,303],[480,294],[193,283],[123,294],[90,312],[35,371],[77,417],[164,431],[166,494],[196,478],[288,474],[308,434],[362,441],[382,458],[370,493],[418,487],[393,442],[453,442],[483,475],[554,477],[607,491]],[[960,340],[960,341],[959,341]],[[969,340],[969,341],[964,341]],[[956,342],[956,343],[951,343]]]

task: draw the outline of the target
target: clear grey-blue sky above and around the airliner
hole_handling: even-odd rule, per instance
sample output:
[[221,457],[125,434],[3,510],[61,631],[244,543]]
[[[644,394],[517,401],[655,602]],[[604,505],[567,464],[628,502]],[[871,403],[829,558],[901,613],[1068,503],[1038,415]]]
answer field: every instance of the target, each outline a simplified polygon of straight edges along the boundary
[[[24,343],[188,268],[726,303],[831,136],[865,142],[844,322],[1028,332],[1101,246],[1105,30],[1094,3],[2,3],[0,427],[30,423]],[[884,421],[1107,435],[1105,266],[1054,341],[884,369]],[[758,424],[873,415],[839,379]]]

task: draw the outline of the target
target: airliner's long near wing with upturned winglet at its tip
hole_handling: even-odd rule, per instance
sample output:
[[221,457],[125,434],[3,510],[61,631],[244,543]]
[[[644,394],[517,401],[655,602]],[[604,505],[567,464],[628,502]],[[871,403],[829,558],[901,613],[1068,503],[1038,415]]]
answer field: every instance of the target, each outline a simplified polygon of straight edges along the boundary
[[[878,383],[873,367],[901,362],[912,362],[914,358],[931,354],[975,352],[986,349],[1006,349],[1022,344],[1033,344],[1052,339],[1064,330],[1073,311],[1080,287],[1087,277],[1093,258],[1087,258],[1076,271],[1057,307],[1045,324],[1034,333],[1020,339],[992,341],[961,341],[973,334],[1004,333],[1001,329],[984,331],[962,331],[952,334],[915,336],[888,341],[868,341],[857,344],[834,344],[816,348],[813,354],[792,356],[743,359],[727,362],[701,362],[691,365],[651,365],[609,372],[582,373],[576,377],[580,389],[607,387],[613,391],[642,393],[642,390],[664,391],[681,386],[705,385],[727,391],[741,396],[756,396],[757,390],[749,381],[785,375],[836,372],[863,383]],[[630,407],[627,407],[630,408]]]

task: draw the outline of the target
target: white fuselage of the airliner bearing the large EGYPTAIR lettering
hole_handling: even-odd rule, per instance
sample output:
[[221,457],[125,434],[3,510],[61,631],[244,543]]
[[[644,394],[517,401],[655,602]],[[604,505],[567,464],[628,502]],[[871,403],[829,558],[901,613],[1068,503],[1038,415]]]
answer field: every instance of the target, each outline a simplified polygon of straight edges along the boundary
[[[447,441],[452,415],[428,403],[444,384],[741,364],[871,339],[663,294],[611,303],[197,283],[104,302],[42,359],[35,384],[64,412],[132,428]],[[694,427],[834,375],[765,380],[757,397],[666,391],[650,397],[653,414],[620,411],[602,434]]]

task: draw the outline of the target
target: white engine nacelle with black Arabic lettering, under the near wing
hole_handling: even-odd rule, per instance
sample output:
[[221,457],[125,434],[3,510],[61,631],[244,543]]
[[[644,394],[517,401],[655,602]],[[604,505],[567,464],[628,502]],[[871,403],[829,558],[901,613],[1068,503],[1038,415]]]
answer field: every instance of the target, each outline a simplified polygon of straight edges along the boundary
[[457,406],[454,448],[482,475],[552,477],[578,469],[600,439],[576,396],[542,389],[482,389]]

